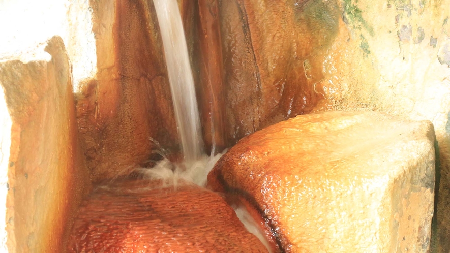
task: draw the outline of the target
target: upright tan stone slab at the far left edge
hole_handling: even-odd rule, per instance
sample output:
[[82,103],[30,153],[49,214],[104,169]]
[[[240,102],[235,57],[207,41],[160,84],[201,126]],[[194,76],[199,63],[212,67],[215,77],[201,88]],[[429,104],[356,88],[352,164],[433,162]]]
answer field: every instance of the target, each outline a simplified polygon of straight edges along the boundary
[[0,85],[12,121],[11,148],[3,153],[9,252],[64,252],[90,182],[62,39],[1,59]]

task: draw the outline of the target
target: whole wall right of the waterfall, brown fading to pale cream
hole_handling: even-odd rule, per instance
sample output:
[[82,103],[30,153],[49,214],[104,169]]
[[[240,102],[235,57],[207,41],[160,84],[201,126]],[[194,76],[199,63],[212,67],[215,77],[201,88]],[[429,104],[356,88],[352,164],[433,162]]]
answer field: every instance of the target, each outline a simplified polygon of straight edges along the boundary
[[[318,104],[312,103],[313,111],[376,110],[430,120],[439,143],[441,171],[433,250],[450,251],[450,2],[219,3],[227,135],[231,142],[300,114],[303,95],[294,95],[296,92],[306,94],[306,108],[316,97]],[[256,67],[248,66],[260,69],[264,76],[261,90],[267,97],[258,93]],[[289,66],[297,72],[290,84],[297,91],[287,90],[288,79],[278,82],[294,73]],[[310,97],[308,90],[313,90]],[[264,105],[269,102],[278,116],[267,116],[271,110]]]

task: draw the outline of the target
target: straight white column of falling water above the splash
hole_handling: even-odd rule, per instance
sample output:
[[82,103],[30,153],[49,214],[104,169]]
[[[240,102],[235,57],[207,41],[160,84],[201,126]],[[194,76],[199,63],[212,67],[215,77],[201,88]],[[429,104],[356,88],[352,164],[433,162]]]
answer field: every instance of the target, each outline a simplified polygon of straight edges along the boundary
[[183,23],[176,0],[154,0],[153,3],[164,45],[178,137],[185,162],[191,164],[204,152]]

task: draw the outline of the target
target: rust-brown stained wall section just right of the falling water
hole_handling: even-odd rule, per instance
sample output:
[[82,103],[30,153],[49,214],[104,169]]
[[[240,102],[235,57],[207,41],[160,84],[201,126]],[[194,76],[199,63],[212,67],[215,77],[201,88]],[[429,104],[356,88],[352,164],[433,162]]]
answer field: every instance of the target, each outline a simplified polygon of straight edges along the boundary
[[306,114],[323,96],[312,58],[333,42],[335,1],[220,1],[226,134],[230,144],[267,125]]

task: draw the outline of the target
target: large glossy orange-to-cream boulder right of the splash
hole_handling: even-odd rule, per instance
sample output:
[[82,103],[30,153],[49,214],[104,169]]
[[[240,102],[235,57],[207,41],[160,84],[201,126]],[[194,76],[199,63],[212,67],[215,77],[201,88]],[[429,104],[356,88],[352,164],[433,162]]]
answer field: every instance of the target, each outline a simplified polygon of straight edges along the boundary
[[208,186],[261,214],[287,252],[427,252],[434,142],[428,121],[301,115],[239,141]]

